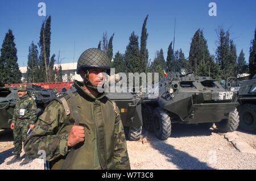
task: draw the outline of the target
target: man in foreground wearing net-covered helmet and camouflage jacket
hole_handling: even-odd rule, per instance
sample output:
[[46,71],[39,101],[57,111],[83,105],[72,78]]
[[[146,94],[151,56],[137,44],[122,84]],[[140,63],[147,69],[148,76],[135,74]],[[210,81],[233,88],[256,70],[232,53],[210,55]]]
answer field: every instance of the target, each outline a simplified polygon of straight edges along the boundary
[[71,93],[53,100],[39,117],[25,143],[27,154],[46,153],[51,169],[130,169],[125,133],[118,107],[97,85],[110,74],[102,50],[81,54]]

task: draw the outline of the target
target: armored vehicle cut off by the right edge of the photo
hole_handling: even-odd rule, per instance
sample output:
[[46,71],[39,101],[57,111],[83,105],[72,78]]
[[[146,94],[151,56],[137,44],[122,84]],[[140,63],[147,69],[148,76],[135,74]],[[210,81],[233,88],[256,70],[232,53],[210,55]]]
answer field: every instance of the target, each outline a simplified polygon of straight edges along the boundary
[[238,91],[238,108],[240,115],[240,127],[256,133],[256,74],[247,81],[242,81]]

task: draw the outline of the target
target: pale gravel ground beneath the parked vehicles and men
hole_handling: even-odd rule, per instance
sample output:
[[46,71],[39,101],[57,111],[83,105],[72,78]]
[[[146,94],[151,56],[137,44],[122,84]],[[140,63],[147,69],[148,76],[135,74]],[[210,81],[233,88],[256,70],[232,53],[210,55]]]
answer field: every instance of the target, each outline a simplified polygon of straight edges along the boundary
[[[256,134],[234,132],[255,149]],[[154,133],[144,133],[146,142],[127,141],[131,169],[256,169],[256,154],[240,153],[213,128],[199,125],[172,125],[172,135],[166,141]],[[0,132],[0,170],[42,169],[38,159],[19,166],[6,165],[13,156],[10,131]],[[39,166],[41,165],[41,166]]]

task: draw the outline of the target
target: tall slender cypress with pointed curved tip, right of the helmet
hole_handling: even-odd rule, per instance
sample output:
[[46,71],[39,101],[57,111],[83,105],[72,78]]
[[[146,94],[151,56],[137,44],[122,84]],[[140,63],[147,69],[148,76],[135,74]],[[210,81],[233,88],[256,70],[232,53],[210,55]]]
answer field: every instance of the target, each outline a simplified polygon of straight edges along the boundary
[[147,18],[144,19],[142,31],[141,31],[141,70],[142,72],[146,72],[147,64],[148,64],[148,50],[147,50]]

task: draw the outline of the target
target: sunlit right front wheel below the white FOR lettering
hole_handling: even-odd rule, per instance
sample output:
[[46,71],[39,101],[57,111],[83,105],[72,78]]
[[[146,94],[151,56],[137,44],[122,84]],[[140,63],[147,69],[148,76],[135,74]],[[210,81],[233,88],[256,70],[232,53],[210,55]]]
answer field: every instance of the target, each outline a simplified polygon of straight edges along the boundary
[[220,132],[233,132],[237,129],[239,125],[239,115],[237,109],[234,109],[232,112],[229,112],[229,118],[221,120],[219,123],[216,123],[216,127]]

